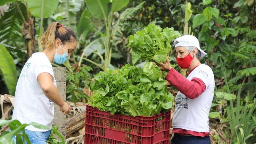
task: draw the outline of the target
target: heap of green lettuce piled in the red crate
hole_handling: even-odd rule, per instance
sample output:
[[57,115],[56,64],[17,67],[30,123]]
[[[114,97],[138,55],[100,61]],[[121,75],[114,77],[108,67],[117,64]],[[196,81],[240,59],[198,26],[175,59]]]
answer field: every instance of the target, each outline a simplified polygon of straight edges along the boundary
[[173,95],[153,62],[147,62],[143,69],[130,64],[116,71],[107,69],[94,78],[92,90],[96,92],[89,104],[112,115],[152,116],[173,107]]

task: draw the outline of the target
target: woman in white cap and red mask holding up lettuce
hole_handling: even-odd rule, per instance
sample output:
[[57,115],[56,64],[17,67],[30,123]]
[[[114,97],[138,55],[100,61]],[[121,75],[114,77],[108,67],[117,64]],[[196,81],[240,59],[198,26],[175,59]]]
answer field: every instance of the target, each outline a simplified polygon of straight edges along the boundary
[[195,36],[184,35],[174,40],[177,64],[186,68],[186,78],[171,67],[169,60],[160,63],[168,71],[165,79],[179,92],[175,98],[174,136],[171,144],[210,144],[208,116],[214,95],[212,69],[200,63],[206,53]]

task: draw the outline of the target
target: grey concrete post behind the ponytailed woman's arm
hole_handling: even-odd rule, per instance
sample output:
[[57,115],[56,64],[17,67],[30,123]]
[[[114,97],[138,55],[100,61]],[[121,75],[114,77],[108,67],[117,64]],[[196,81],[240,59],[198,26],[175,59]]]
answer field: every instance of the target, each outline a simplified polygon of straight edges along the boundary
[[[66,101],[66,68],[65,67],[54,67],[54,77],[57,82],[57,89],[62,96],[62,99]],[[63,115],[57,104],[54,104],[54,120],[53,125],[57,126],[58,132],[66,139],[66,115]],[[58,137],[55,135],[55,137]],[[57,138],[60,140],[60,138]]]

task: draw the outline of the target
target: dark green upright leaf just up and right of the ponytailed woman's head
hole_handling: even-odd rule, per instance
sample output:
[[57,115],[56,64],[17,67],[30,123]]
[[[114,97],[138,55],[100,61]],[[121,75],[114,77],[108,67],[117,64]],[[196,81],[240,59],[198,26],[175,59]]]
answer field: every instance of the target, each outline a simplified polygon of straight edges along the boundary
[[91,13],[90,13],[89,9],[85,8],[80,17],[80,21],[77,25],[77,36],[80,36],[80,34],[82,34],[85,31],[85,29],[90,28],[90,26],[89,26],[90,19],[91,19]]

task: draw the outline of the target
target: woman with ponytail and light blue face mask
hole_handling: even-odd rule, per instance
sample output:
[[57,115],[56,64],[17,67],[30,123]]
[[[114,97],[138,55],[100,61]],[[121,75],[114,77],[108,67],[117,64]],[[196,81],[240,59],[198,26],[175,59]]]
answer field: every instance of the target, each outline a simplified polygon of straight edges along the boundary
[[[66,62],[76,48],[74,31],[58,22],[51,23],[41,40],[43,52],[32,54],[25,63],[15,92],[13,119],[22,124],[37,122],[52,126],[54,103],[64,115],[71,107],[63,101],[56,87],[51,62]],[[51,129],[27,126],[25,132],[32,144],[46,144]],[[16,137],[13,138],[16,143]]]

